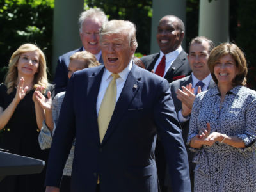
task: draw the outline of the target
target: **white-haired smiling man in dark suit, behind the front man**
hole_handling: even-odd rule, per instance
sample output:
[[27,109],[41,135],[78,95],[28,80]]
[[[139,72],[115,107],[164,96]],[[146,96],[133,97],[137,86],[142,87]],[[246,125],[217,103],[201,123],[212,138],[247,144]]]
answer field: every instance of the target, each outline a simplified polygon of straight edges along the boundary
[[99,30],[106,21],[108,21],[108,17],[99,8],[90,8],[81,13],[79,17],[79,34],[83,47],[67,52],[58,58],[54,77],[56,93],[65,91],[67,87],[69,58],[75,52],[91,52],[95,55],[99,63],[103,63],[99,45]]

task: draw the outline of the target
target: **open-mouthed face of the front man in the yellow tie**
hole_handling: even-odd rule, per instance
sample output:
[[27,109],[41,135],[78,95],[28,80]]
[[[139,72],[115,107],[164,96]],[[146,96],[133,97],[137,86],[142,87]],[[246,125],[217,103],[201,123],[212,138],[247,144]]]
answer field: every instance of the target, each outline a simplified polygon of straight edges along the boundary
[[125,31],[103,35],[100,46],[105,67],[115,74],[127,67],[135,52],[129,45],[129,36]]

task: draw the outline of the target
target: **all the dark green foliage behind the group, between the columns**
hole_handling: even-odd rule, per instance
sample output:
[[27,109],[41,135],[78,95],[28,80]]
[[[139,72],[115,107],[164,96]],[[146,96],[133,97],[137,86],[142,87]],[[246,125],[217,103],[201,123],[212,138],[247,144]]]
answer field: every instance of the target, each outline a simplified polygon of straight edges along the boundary
[[[198,35],[199,1],[186,1],[186,42]],[[150,53],[152,0],[85,0],[84,9],[97,6],[111,19],[131,20],[137,26],[137,56]],[[8,60],[21,44],[32,42],[44,50],[51,70],[54,0],[0,0],[0,81]],[[256,1],[230,0],[230,41],[235,42],[248,60],[248,85],[255,86]],[[221,30],[221,29],[220,29]],[[51,80],[51,74],[49,74]]]

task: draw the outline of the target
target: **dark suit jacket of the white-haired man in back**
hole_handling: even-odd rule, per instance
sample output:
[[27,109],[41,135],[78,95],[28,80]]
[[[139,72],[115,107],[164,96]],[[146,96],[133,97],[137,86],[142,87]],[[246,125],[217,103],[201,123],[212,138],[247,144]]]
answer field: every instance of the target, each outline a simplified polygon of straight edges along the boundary
[[[75,52],[83,51],[83,47],[79,49],[67,52],[58,58],[57,68],[54,76],[54,83],[55,83],[55,92],[60,93],[64,92],[67,88],[68,84],[68,64],[69,58]],[[100,56],[99,63],[103,63],[102,56]]]

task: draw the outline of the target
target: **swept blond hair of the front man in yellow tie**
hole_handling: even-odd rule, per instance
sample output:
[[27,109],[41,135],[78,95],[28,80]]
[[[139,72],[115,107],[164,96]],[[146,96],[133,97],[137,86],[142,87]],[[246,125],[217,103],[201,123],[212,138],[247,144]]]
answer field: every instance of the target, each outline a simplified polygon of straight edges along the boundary
[[130,47],[137,49],[136,26],[128,20],[111,20],[102,25],[100,29],[100,42],[103,35],[127,32],[129,36]]

